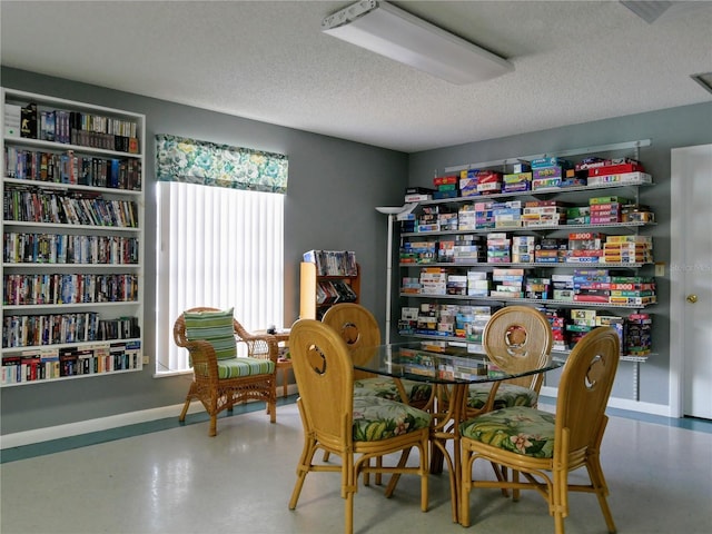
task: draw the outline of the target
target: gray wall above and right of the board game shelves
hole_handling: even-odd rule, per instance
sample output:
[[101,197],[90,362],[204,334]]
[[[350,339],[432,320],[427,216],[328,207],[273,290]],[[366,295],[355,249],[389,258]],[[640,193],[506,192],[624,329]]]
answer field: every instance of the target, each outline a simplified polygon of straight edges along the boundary
[[[651,139],[642,148],[640,159],[645,170],[653,176],[655,187],[641,189],[641,201],[650,205],[657,226],[642,233],[653,236],[656,261],[670,264],[670,150],[676,147],[712,142],[712,102],[617,117],[564,128],[523,134],[518,136],[472,142],[437,150],[412,154],[408,185],[431,186],[433,169],[443,172],[446,167],[493,161],[517,156],[528,156],[557,150],[602,146],[622,141]],[[646,267],[652,276],[653,268]],[[653,314],[653,350],[647,362],[640,364],[640,400],[652,404],[669,404],[670,375],[670,279],[657,278],[659,304],[647,308]],[[627,310],[619,315],[625,315]],[[619,367],[613,396],[634,398],[634,373],[636,364],[622,362]],[[547,376],[547,384],[555,385],[556,377]]]

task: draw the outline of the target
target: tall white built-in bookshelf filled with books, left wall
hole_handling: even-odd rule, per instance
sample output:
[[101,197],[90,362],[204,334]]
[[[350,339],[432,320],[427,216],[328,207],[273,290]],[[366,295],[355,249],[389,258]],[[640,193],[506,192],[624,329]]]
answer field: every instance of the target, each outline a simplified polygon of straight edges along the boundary
[[2,105],[2,386],[140,370],[145,116]]

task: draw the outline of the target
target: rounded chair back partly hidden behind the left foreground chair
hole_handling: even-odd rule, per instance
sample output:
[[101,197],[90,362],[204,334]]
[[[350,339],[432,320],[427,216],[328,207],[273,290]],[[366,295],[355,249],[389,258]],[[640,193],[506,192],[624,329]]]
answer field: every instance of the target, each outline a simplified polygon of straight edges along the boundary
[[[322,322],[334,328],[346,343],[349,353],[362,347],[376,347],[380,345],[380,328],[378,322],[368,308],[360,304],[342,303],[326,310]],[[367,352],[358,352],[360,362],[353,360],[356,365],[363,365],[369,358]],[[354,370],[354,378],[367,378],[374,376],[370,373]]]

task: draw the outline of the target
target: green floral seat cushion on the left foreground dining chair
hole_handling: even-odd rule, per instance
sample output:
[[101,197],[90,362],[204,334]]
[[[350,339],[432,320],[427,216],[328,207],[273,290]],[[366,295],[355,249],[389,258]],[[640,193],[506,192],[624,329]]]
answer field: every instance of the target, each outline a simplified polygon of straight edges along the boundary
[[431,414],[407,404],[374,395],[354,396],[354,439],[377,442],[427,428]]

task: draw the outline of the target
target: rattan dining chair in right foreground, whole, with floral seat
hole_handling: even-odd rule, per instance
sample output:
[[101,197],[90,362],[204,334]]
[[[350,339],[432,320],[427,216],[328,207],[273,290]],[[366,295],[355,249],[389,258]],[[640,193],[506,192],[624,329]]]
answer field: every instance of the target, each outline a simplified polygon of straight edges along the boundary
[[[609,508],[609,488],[600,449],[607,423],[605,407],[619,365],[619,337],[599,327],[574,347],[558,384],[556,415],[526,406],[491,412],[461,425],[461,523],[469,526],[473,487],[536,490],[548,502],[554,532],[564,533],[568,492],[595,493],[609,532],[615,524]],[[513,471],[512,479],[473,479],[473,464],[482,458]],[[585,467],[590,484],[571,484],[568,473]],[[520,481],[524,476],[524,482]]]

